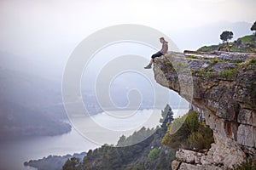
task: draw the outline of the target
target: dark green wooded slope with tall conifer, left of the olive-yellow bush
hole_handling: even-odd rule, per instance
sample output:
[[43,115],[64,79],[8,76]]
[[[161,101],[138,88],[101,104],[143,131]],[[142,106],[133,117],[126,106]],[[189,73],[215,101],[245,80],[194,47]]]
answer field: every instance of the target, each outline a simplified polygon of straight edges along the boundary
[[[167,126],[173,120],[173,112],[169,105],[166,105],[162,111],[161,126],[157,129],[146,129],[143,127],[140,131],[133,133],[129,137],[122,136],[117,146],[125,146],[130,144],[133,139],[137,139],[141,135],[146,135],[149,131],[154,132],[148,139],[138,144],[125,147],[112,147],[108,144],[102,145],[96,150],[89,150],[87,156],[79,164],[80,169],[94,170],[148,170],[159,169],[166,170],[171,168],[171,163],[175,159],[176,150],[170,149],[161,144],[161,140],[166,134]],[[70,161],[66,162],[68,166],[63,170],[73,170],[76,166],[70,166]],[[68,168],[67,168],[68,167]]]

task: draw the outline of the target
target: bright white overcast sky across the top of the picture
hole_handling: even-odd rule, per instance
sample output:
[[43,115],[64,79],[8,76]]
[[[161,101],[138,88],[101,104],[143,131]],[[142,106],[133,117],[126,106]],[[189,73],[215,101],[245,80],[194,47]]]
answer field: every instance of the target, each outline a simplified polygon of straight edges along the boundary
[[222,21],[253,23],[255,8],[255,0],[1,0],[0,50],[68,54],[106,26],[140,24],[169,34]]

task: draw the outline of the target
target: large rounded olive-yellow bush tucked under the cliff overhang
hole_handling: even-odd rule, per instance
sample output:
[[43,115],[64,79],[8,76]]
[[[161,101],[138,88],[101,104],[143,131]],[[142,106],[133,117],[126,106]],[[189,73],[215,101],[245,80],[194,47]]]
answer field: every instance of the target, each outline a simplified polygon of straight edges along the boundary
[[199,120],[198,113],[189,111],[186,116],[177,118],[172,122],[162,144],[171,148],[208,150],[213,142],[212,134],[212,129]]

